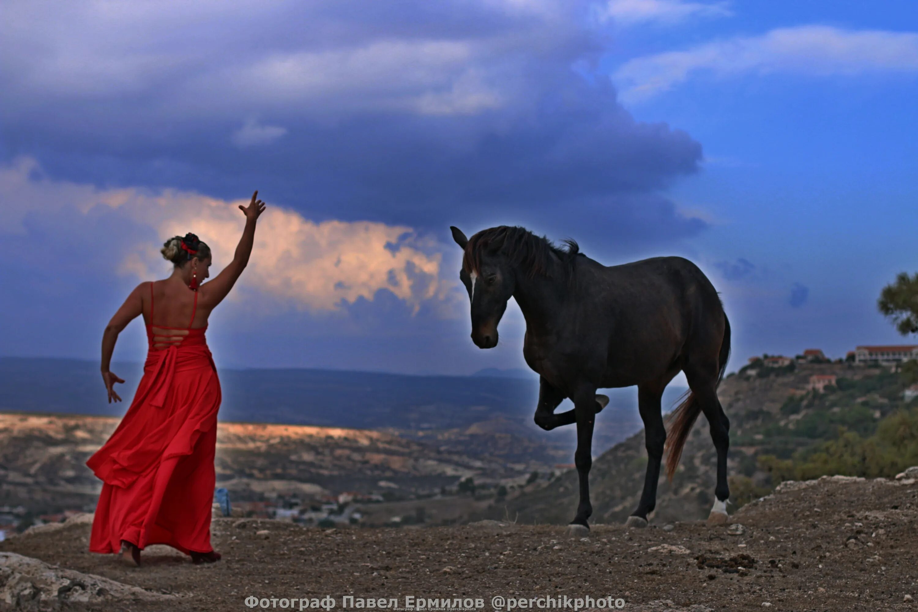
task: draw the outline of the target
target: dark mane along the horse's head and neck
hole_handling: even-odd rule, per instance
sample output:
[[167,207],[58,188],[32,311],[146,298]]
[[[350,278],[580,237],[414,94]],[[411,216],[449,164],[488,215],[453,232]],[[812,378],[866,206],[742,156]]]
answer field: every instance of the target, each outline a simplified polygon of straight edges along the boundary
[[536,236],[526,228],[499,226],[482,229],[465,245],[462,264],[466,272],[480,273],[481,253],[500,252],[530,277],[547,276],[554,254],[564,264],[565,276],[569,277],[574,273],[574,260],[580,254],[580,247],[572,239],[564,240],[564,245],[564,248],[559,248],[551,240]]

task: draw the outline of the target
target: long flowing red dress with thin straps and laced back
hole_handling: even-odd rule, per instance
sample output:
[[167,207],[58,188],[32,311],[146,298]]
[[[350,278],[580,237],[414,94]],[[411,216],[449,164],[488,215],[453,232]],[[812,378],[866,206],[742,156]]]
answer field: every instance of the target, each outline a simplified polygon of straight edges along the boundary
[[140,549],[168,544],[188,554],[210,552],[214,449],[220,383],[207,326],[163,349],[150,343],[143,378],[118,428],[86,464],[104,484],[95,506],[92,552],[118,552],[121,540]]

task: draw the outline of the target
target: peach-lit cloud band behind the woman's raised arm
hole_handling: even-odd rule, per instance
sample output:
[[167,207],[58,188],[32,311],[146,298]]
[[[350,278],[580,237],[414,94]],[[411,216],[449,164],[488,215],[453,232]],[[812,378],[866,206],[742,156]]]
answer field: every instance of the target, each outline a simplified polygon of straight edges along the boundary
[[[237,206],[247,203],[173,189],[97,189],[52,181],[40,174],[30,158],[0,167],[0,200],[17,203],[0,233],[27,232],[23,221],[29,215],[52,223],[55,213],[65,208],[111,216],[130,229],[147,229],[160,240],[193,231],[213,250],[214,274],[236,250],[245,222]],[[373,300],[380,289],[391,291],[415,310],[425,300],[449,299],[451,285],[440,279],[439,245],[421,239],[412,228],[371,221],[316,223],[270,199],[268,204],[241,280],[249,289],[324,311],[359,298]],[[124,257],[113,265],[118,273],[139,280],[162,277],[167,264],[160,246],[154,241],[120,245],[113,250],[125,253]]]

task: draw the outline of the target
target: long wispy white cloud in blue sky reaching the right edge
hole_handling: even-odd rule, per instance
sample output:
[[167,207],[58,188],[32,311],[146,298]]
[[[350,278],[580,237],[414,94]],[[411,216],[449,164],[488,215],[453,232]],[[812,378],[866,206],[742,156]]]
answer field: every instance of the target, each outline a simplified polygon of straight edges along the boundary
[[918,34],[829,26],[773,29],[625,62],[613,74],[625,102],[666,92],[702,72],[717,77],[781,72],[854,76],[918,72]]

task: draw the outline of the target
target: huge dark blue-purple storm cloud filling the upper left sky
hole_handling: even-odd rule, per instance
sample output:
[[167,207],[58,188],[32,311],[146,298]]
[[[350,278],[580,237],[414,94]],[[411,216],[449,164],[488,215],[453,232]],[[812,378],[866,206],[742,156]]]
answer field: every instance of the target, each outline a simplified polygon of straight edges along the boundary
[[58,178],[256,185],[317,220],[437,231],[496,211],[627,239],[705,227],[659,195],[700,144],[635,121],[592,72],[605,41],[585,5],[70,6],[65,33],[34,10],[0,26],[2,154]]

